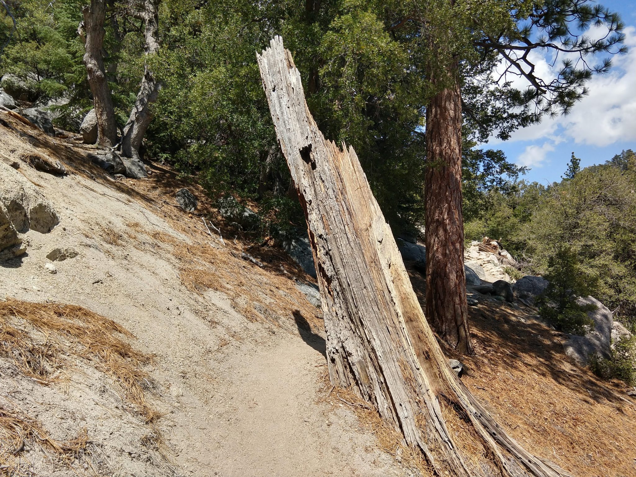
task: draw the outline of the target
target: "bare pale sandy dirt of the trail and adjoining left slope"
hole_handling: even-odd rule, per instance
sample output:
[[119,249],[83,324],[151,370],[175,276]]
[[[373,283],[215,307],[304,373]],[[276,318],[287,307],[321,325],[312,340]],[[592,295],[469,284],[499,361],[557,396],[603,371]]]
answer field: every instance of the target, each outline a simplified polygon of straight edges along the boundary
[[[19,151],[11,155],[6,144],[3,151],[20,161]],[[15,374],[0,380],[0,397],[31,410],[56,438],[85,425],[93,453],[86,475],[406,474],[349,410],[320,401],[322,338],[301,336],[293,322],[288,329],[251,322],[224,294],[186,289],[176,259],[149,234],[187,239],[115,188],[77,174],[51,176],[24,162],[15,174],[38,184],[60,224],[50,233],[27,233],[27,254],[0,266],[0,295],[81,305],[125,326],[138,338],[135,347],[155,355],[149,372],[159,383],[154,404],[165,413],[158,427],[171,462],[144,448],[144,423],[90,370],[69,371],[67,385],[41,386]],[[46,255],[56,247],[79,254],[53,262],[51,273]],[[2,372],[8,363],[0,365]],[[25,457],[41,473],[78,473],[50,467],[38,452],[27,448]]]

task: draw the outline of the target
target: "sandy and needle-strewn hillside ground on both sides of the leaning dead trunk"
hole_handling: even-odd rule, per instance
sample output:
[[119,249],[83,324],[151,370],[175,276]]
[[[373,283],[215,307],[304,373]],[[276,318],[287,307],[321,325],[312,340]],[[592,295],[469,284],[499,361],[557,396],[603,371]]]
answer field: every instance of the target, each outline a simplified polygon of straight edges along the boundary
[[[32,219],[25,253],[0,266],[0,342],[13,343],[0,347],[4,473],[411,474],[364,404],[326,384],[321,313],[299,285],[311,279],[284,252],[231,232],[169,167],[116,179],[86,162],[90,148],[0,114],[0,188],[22,184],[59,219],[50,232]],[[195,212],[176,205],[184,186]],[[570,363],[533,308],[473,298],[477,354],[449,357],[506,431],[576,476],[636,476],[636,401],[621,384]],[[56,319],[83,328],[43,324]]]

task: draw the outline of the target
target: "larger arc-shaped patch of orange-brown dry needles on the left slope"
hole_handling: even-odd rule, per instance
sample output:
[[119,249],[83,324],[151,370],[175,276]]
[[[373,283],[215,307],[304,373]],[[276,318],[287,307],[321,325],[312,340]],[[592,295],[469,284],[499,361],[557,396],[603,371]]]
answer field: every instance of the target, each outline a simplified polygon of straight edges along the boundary
[[135,350],[127,329],[77,305],[0,301],[0,354],[40,384],[60,379],[60,369],[73,366],[71,357],[86,359],[113,378],[123,397],[146,422],[160,416],[146,402],[154,384],[141,366],[151,357]]

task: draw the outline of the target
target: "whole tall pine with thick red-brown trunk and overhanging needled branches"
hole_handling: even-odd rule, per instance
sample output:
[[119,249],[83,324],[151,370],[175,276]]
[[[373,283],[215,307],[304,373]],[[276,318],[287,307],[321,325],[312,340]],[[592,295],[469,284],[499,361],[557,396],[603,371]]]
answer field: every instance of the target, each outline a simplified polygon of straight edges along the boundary
[[[385,4],[388,29],[410,45],[413,64],[429,87],[425,107],[426,313],[439,336],[471,353],[464,275],[462,119],[476,128],[515,125],[545,114],[568,113],[595,73],[624,53],[623,24],[591,0],[413,0]],[[590,31],[588,31],[590,30]],[[600,64],[593,57],[601,55]],[[537,62],[561,61],[546,78]],[[513,85],[522,78],[527,88]],[[520,108],[513,118],[467,104],[471,86],[497,88],[502,101]],[[498,86],[498,87],[497,87]]]

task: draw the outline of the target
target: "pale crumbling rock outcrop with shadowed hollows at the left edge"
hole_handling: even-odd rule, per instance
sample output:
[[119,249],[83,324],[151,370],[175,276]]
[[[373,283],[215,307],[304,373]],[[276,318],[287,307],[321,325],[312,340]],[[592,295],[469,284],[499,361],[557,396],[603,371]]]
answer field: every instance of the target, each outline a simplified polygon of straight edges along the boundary
[[0,260],[26,251],[29,230],[47,233],[60,219],[53,206],[22,174],[0,161]]

